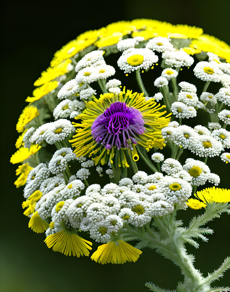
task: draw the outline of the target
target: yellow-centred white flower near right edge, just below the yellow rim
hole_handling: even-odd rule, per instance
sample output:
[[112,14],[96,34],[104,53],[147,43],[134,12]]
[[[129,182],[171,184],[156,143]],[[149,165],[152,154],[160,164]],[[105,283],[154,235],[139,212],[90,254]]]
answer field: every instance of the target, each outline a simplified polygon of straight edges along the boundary
[[222,78],[222,71],[211,62],[198,62],[193,69],[195,76],[203,81],[219,82]]

